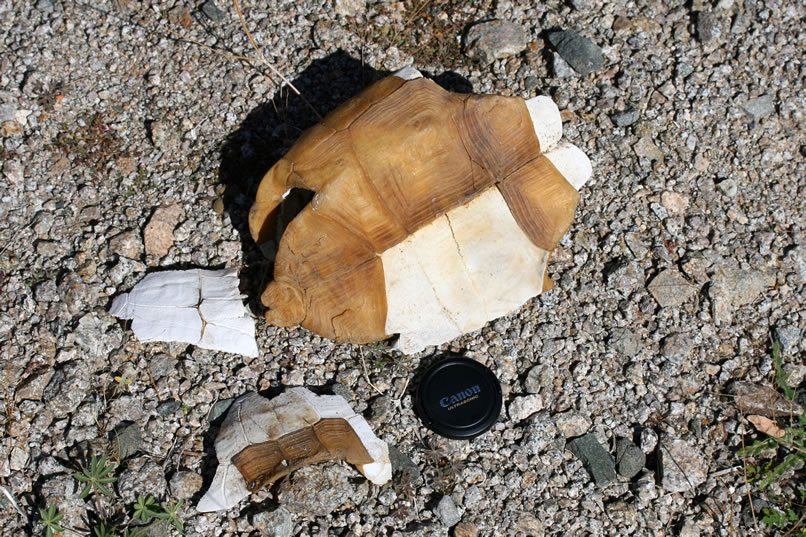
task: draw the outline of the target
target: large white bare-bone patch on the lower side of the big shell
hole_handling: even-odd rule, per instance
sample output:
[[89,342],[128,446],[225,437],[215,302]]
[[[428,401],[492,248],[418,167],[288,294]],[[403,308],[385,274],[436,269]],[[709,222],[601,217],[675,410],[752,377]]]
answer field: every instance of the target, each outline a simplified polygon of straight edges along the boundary
[[381,255],[386,332],[404,353],[439,345],[521,307],[543,290],[548,252],[492,187]]

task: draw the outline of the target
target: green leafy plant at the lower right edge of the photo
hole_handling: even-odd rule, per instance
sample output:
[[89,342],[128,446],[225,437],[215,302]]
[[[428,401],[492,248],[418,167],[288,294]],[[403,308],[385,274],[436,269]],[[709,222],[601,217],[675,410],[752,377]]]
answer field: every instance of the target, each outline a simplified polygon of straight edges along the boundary
[[[796,401],[798,394],[788,384],[788,376],[783,368],[781,344],[778,341],[774,341],[772,345],[772,360],[775,366],[775,383],[785,398]],[[746,464],[748,483],[756,484],[761,491],[782,479],[788,471],[802,471],[806,466],[806,412],[793,419],[783,431],[780,438],[767,436],[739,450],[741,457],[769,457],[772,454],[769,460],[760,464]],[[800,488],[799,494],[799,499],[770,498],[774,507],[763,510],[762,522],[781,530],[787,529],[787,535],[806,537],[806,528],[803,527],[806,520],[806,488]]]

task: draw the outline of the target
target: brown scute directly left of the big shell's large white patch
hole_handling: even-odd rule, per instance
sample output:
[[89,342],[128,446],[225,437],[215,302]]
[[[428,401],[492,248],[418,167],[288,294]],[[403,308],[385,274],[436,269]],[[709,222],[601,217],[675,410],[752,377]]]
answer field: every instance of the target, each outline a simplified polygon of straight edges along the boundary
[[302,326],[324,337],[368,343],[389,337],[386,286],[380,257],[305,290]]

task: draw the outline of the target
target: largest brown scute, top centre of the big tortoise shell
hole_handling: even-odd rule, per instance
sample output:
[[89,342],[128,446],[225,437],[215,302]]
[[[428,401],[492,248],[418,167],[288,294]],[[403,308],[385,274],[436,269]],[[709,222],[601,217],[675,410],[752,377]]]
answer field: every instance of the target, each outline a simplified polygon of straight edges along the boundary
[[454,94],[418,78],[350,126],[364,173],[408,233],[477,193],[459,142],[462,109]]

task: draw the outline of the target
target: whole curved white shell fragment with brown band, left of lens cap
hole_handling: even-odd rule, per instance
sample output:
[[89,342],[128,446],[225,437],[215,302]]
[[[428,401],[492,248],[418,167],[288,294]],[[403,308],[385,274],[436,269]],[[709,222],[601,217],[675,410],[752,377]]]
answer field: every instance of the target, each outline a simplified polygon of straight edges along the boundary
[[274,399],[249,393],[230,407],[215,442],[218,469],[199,512],[220,511],[308,464],[344,460],[383,485],[392,478],[389,449],[343,397],[305,388]]

